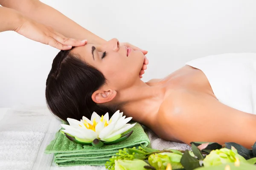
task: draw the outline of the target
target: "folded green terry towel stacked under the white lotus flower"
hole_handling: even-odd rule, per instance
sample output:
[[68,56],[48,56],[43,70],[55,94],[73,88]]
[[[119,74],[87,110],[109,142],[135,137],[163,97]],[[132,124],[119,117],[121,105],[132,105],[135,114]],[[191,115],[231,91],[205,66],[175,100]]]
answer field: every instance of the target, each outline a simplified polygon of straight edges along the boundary
[[148,136],[139,123],[126,133],[129,133],[131,130],[134,130],[134,132],[128,139],[116,144],[104,145],[100,148],[76,144],[58,131],[55,139],[46,147],[45,153],[54,153],[54,162],[58,166],[104,165],[111,156],[116,155],[119,149],[138,147],[140,144],[148,146],[150,144]]

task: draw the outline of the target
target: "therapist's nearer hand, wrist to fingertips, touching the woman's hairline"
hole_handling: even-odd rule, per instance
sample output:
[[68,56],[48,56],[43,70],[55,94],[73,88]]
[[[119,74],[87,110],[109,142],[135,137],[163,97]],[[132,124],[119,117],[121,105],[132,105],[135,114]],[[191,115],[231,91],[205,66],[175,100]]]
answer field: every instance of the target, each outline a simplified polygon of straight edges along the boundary
[[72,46],[82,46],[87,43],[87,40],[75,40],[64,37],[51,27],[37,23],[27,17],[23,18],[14,31],[31,40],[50,45],[59,50],[69,50]]

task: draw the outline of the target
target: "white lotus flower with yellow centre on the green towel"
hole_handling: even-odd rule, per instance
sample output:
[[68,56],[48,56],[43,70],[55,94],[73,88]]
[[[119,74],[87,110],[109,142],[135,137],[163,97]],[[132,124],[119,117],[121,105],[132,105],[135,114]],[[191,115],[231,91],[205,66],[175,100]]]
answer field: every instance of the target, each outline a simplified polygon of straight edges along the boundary
[[134,124],[127,124],[132,117],[125,119],[122,116],[123,112],[113,114],[111,119],[108,117],[108,113],[101,117],[93,112],[91,119],[87,119],[85,116],[78,121],[76,119],[67,118],[70,125],[61,124],[65,130],[61,130],[67,133],[69,136],[73,136],[79,142],[90,143],[94,139],[99,139],[105,142],[111,142],[121,137],[121,134],[134,127]]

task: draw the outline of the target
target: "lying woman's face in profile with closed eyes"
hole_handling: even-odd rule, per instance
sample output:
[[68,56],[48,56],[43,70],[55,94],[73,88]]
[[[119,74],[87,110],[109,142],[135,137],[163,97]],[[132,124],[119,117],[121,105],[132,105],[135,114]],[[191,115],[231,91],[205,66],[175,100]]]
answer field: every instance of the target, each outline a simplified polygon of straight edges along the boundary
[[101,71],[113,90],[131,87],[140,79],[143,53],[125,46],[120,47],[117,39],[102,45],[87,44],[76,47],[72,53],[78,54],[80,59]]

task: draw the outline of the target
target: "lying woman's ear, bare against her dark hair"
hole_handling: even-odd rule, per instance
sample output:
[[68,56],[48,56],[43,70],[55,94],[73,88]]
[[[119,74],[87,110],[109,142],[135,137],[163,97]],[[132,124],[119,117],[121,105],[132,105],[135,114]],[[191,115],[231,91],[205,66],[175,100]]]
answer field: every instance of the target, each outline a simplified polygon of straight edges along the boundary
[[99,89],[92,94],[92,99],[93,99],[93,102],[100,104],[100,103],[110,102],[115,98],[115,96],[116,96],[115,90],[108,89],[107,91],[105,91],[103,89]]

